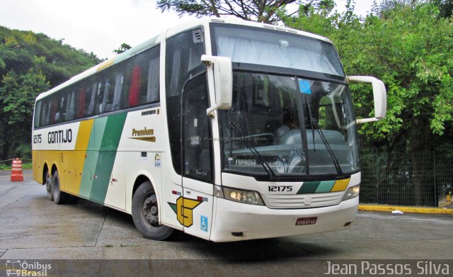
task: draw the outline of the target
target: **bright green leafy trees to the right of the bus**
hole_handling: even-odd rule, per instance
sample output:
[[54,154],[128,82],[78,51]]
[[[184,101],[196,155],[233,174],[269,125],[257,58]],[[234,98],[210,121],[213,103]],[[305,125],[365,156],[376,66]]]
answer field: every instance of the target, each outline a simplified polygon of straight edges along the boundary
[[[284,22],[325,35],[336,45],[348,75],[384,81],[384,120],[359,126],[365,146],[389,150],[433,149],[451,144],[453,115],[453,21],[428,1],[386,1],[360,18],[353,1],[344,13],[311,8]],[[373,114],[371,86],[351,85],[358,117]]]

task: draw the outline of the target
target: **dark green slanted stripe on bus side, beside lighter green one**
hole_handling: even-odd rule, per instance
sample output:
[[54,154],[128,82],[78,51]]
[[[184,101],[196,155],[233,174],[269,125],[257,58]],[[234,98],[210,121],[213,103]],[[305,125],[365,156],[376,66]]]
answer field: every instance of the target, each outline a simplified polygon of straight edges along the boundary
[[113,164],[120,144],[122,128],[125,125],[127,113],[120,113],[109,116],[105,124],[101,149],[99,149],[98,161],[96,164],[93,187],[91,188],[90,198],[100,203],[104,203],[107,195],[110,176],[112,175]]

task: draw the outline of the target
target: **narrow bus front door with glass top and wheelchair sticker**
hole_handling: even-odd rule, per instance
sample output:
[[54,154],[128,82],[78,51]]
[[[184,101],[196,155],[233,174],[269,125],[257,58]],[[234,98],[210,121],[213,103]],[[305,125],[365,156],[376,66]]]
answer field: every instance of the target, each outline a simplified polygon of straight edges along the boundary
[[[183,198],[184,231],[209,239],[212,224],[212,135],[205,74],[188,82],[183,92]],[[178,214],[179,215],[179,214]]]

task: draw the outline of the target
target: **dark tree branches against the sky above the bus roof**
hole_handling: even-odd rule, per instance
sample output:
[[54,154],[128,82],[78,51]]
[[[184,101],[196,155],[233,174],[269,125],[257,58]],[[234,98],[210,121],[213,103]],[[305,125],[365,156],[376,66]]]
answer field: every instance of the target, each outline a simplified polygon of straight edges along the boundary
[[[289,4],[296,4],[298,0],[158,0],[156,6],[162,12],[173,10],[182,16],[236,16],[246,21],[275,23],[280,21],[278,11]],[[331,0],[304,1],[302,9],[310,6],[333,3]]]

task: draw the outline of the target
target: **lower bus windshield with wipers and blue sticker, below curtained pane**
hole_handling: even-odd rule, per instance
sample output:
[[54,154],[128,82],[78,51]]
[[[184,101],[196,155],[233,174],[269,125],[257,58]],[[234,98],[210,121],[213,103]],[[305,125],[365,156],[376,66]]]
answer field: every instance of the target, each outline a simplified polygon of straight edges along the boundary
[[264,174],[268,166],[283,177],[359,169],[348,86],[253,72],[233,76],[233,106],[219,113],[224,169]]

